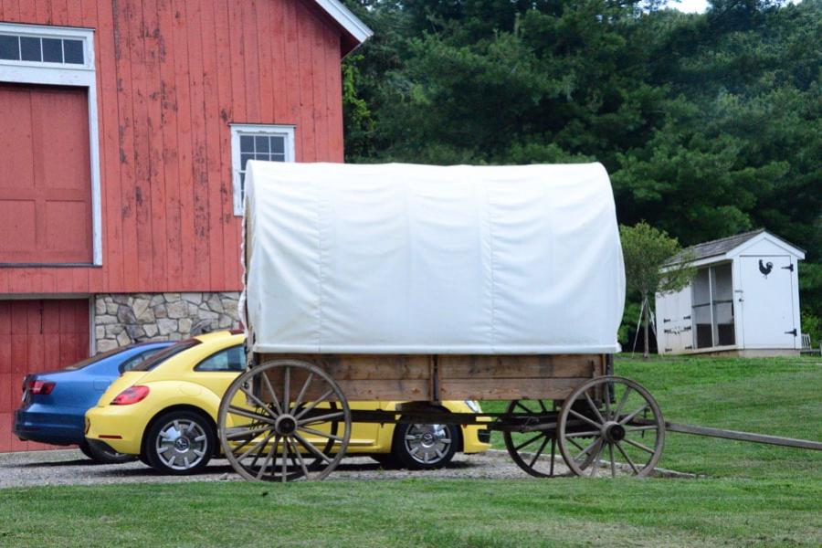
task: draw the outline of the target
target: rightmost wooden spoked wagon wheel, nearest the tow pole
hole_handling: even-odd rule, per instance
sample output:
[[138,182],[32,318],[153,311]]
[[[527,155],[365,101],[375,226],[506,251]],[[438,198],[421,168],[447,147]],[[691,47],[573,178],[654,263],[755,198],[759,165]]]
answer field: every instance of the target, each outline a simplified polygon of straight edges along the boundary
[[[609,390],[613,399],[606,396],[601,404],[595,402],[592,395]],[[602,376],[579,386],[565,400],[557,443],[565,464],[578,476],[596,476],[605,456],[612,477],[617,468],[645,477],[662,455],[665,421],[648,390],[624,377]]]

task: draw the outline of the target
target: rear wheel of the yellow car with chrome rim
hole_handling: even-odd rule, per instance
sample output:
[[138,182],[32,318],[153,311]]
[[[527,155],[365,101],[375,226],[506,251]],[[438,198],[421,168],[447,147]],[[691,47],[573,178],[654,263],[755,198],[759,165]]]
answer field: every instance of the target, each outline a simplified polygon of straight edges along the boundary
[[171,411],[153,421],[142,452],[158,472],[184,476],[204,469],[215,449],[211,421],[192,411]]

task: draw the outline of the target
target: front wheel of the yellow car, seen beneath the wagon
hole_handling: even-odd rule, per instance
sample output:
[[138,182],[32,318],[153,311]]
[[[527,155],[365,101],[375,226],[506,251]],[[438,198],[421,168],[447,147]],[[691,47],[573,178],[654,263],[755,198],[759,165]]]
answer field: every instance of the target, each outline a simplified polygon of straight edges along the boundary
[[398,424],[391,455],[406,469],[437,469],[454,458],[458,445],[456,425]]

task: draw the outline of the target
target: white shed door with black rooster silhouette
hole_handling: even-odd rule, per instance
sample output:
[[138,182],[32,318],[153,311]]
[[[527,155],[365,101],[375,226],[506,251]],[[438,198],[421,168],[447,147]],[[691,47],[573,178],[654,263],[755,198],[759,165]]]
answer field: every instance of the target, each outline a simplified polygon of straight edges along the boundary
[[741,257],[739,260],[745,348],[795,348],[794,276],[790,256]]

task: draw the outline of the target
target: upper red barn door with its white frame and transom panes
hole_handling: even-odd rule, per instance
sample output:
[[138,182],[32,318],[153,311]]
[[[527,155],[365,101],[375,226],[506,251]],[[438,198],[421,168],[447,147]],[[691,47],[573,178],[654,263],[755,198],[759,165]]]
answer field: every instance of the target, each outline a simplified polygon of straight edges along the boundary
[[0,23],[0,103],[0,263],[100,265],[94,31]]

